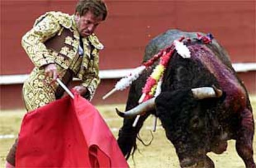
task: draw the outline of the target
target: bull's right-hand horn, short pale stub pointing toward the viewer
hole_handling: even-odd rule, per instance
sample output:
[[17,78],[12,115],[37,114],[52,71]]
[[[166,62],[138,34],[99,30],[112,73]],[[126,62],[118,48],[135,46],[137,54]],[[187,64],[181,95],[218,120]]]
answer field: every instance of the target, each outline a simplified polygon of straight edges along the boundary
[[205,98],[220,98],[223,91],[213,87],[201,87],[191,89],[194,98],[196,99],[205,99]]

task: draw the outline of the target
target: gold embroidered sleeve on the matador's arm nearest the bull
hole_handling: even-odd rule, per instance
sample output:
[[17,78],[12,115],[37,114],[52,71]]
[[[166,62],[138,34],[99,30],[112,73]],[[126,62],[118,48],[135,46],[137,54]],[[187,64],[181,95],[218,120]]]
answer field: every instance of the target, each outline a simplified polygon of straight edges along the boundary
[[82,86],[85,86],[89,91],[85,98],[89,100],[92,100],[95,90],[100,84],[98,49],[94,49],[92,54],[94,59],[88,62],[88,69],[82,75]]

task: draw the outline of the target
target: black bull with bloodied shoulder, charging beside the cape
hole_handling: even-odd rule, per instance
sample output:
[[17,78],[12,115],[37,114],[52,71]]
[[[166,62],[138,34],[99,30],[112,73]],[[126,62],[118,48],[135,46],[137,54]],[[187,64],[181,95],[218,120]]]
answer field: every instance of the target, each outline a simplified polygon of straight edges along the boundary
[[[150,41],[143,62],[181,36],[191,39],[186,44],[191,57],[184,59],[174,52],[164,72],[161,94],[151,101],[153,108],[145,111],[143,107],[145,113],[136,127],[132,127],[133,114],[124,119],[117,140],[122,153],[126,158],[134,153],[143,122],[150,114],[155,114],[161,120],[168,140],[176,148],[181,167],[214,167],[206,154],[211,151],[223,153],[230,139],[236,140],[236,151],[245,166],[255,167],[252,148],[254,119],[249,97],[231,66],[227,52],[216,40],[204,44],[194,40],[196,33],[169,30]],[[130,86],[126,111],[132,109],[131,113],[135,114],[140,111],[136,109],[138,101],[152,70],[145,70]],[[192,88],[205,86],[213,86],[215,91],[221,90],[221,94],[196,98]],[[119,112],[119,115],[124,114]]]

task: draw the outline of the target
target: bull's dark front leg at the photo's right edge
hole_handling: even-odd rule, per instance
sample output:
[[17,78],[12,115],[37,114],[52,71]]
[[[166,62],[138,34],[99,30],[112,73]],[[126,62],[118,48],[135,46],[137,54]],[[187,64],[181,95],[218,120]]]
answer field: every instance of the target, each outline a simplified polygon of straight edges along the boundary
[[252,142],[254,137],[254,118],[249,109],[244,109],[241,113],[241,127],[237,133],[236,151],[245,163],[247,168],[255,168],[253,158]]

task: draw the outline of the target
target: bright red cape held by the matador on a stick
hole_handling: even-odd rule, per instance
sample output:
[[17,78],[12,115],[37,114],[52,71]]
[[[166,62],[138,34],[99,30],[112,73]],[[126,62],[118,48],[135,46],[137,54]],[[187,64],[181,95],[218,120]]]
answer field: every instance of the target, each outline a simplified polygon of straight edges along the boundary
[[16,167],[129,167],[99,112],[66,96],[25,115]]

